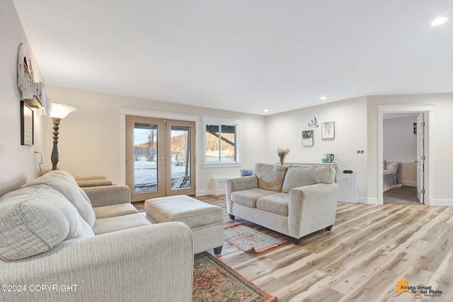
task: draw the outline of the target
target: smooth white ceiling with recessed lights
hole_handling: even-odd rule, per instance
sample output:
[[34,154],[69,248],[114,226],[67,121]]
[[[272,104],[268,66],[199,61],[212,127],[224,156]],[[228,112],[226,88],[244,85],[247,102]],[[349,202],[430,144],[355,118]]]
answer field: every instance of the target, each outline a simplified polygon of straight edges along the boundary
[[451,0],[13,2],[47,85],[256,115],[453,92]]

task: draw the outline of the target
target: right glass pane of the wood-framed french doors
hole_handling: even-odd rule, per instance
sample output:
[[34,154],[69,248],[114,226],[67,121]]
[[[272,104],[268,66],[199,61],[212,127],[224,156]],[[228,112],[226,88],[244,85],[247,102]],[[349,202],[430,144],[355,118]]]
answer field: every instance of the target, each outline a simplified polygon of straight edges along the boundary
[[171,126],[171,190],[190,188],[190,127]]

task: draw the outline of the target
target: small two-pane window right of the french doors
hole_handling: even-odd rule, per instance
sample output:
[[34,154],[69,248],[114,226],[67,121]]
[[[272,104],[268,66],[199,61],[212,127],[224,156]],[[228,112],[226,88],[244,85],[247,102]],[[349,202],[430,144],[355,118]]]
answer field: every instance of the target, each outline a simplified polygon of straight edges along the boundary
[[239,163],[239,122],[205,118],[205,163]]

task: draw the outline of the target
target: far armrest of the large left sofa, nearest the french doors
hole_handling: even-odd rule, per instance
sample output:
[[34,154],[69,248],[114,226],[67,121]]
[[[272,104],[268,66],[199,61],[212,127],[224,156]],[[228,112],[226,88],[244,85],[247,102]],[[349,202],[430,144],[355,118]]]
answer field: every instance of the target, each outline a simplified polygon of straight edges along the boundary
[[82,190],[88,195],[93,207],[130,203],[130,189],[127,185],[84,187]]

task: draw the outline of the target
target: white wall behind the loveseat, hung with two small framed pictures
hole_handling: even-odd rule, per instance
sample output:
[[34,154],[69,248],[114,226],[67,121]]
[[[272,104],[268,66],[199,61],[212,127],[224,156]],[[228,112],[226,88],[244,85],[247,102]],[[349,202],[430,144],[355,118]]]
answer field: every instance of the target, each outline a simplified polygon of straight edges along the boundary
[[[288,163],[321,163],[325,153],[333,153],[340,170],[357,173],[359,199],[367,197],[367,99],[354,98],[335,103],[283,112],[267,117],[266,156],[278,161],[277,147],[291,149]],[[310,120],[319,122],[311,128]],[[321,139],[321,122],[335,122],[335,139]],[[302,146],[302,131],[314,130],[314,146]],[[357,154],[357,150],[364,153]]]

